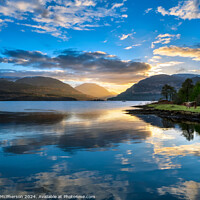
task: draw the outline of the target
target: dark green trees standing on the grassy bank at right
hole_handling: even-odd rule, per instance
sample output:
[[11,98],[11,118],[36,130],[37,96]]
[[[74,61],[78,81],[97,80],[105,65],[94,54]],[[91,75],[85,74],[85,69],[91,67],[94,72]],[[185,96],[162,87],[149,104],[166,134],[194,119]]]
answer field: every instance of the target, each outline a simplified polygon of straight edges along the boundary
[[196,101],[200,105],[200,82],[193,84],[192,79],[186,79],[182,87],[176,89],[168,84],[162,87],[161,95],[165,100],[173,101],[176,104],[183,102]]

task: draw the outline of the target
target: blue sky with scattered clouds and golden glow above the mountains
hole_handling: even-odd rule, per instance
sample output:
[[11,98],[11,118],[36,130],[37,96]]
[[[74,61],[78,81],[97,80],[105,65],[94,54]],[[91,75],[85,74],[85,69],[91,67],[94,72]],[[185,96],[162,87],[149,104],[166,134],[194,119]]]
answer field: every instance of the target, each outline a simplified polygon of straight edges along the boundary
[[0,77],[122,92],[200,73],[200,0],[0,0]]

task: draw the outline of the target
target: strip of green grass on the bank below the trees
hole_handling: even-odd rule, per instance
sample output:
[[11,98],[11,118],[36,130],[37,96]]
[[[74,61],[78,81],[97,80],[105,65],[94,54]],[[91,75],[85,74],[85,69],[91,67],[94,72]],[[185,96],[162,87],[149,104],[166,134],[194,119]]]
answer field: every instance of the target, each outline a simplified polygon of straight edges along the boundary
[[200,113],[200,106],[198,106],[196,109],[194,107],[186,108],[186,106],[175,105],[175,104],[150,104],[148,106],[153,107],[153,108],[158,109],[158,110],[175,110],[175,111]]

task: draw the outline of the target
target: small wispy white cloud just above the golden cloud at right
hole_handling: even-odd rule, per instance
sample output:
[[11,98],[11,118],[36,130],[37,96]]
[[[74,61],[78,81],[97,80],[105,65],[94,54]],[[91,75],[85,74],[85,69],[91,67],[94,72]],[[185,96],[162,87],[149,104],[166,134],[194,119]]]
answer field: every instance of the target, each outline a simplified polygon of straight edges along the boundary
[[169,33],[160,34],[156,37],[156,41],[151,43],[151,48],[155,48],[155,44],[168,44],[171,42],[172,39],[180,39],[181,35],[176,34],[172,35]]

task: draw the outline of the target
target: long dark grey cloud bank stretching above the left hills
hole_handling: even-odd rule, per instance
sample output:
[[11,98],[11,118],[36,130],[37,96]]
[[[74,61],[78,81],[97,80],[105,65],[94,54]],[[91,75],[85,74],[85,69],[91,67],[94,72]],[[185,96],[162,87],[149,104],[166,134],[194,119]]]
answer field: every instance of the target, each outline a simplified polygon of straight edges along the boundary
[[57,71],[57,75],[74,81],[87,79],[128,84],[144,78],[146,72],[151,69],[147,63],[120,60],[117,56],[102,51],[66,49],[56,56],[49,56],[40,51],[4,50],[2,54],[4,56],[0,58],[1,63],[50,70],[51,75],[55,70],[63,70]]

